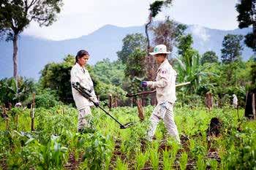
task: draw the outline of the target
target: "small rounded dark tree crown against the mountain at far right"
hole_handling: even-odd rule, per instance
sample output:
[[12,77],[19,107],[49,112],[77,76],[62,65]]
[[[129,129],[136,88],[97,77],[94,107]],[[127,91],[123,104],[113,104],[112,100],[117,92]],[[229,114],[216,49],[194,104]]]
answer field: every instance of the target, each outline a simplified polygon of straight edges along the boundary
[[222,63],[231,63],[241,57],[242,35],[227,34],[222,41]]

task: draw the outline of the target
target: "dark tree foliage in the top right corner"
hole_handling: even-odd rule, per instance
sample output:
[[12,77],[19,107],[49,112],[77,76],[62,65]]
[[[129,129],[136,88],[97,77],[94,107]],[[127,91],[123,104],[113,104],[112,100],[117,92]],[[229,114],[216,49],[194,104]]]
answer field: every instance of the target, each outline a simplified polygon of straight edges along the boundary
[[236,4],[238,27],[252,26],[252,33],[246,34],[244,42],[256,52],[256,0],[241,0]]

